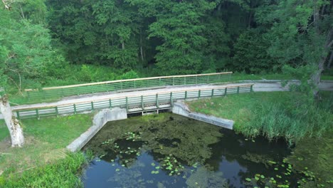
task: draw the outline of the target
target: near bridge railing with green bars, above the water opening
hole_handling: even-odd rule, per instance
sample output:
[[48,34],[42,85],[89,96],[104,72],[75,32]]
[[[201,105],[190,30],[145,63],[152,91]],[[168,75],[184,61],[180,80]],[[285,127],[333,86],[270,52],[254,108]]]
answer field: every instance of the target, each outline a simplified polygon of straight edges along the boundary
[[205,90],[181,90],[176,92],[152,93],[147,95],[135,95],[118,98],[105,98],[83,103],[70,103],[65,105],[49,105],[41,108],[17,108],[14,110],[16,117],[40,118],[49,115],[66,115],[83,113],[105,108],[126,108],[127,113],[137,113],[152,109],[172,108],[174,100],[187,100],[193,98],[211,98],[233,93],[248,93],[253,91],[251,85],[236,85],[228,87],[216,87]]

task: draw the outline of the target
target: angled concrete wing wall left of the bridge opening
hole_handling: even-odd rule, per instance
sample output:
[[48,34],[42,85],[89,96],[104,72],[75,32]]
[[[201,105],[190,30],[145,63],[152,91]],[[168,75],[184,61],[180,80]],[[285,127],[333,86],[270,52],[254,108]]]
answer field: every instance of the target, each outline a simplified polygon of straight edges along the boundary
[[85,146],[107,122],[125,119],[127,119],[126,109],[112,108],[111,110],[101,110],[94,116],[93,126],[91,126],[86,132],[83,132],[80,137],[70,143],[70,145],[67,146],[67,149],[71,152],[81,150],[83,146]]

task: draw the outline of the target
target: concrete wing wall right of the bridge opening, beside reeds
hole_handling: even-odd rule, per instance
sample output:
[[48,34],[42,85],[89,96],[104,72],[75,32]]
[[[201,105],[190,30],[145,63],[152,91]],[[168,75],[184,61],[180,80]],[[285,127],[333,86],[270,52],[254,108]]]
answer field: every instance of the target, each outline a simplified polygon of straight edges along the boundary
[[192,113],[187,107],[187,105],[181,101],[177,101],[176,103],[174,103],[174,107],[172,108],[172,113],[182,115],[185,117],[190,117],[194,120],[208,122],[210,124],[217,125],[219,127],[224,127],[230,130],[233,129],[233,120],[227,120],[211,115],[204,115],[201,113]]

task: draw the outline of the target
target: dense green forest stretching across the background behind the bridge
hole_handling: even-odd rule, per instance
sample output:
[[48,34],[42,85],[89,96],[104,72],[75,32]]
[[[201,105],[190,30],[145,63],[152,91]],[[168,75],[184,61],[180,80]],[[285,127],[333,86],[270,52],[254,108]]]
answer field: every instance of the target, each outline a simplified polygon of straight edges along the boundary
[[216,71],[285,72],[317,85],[333,60],[327,0],[2,3],[0,85],[18,90]]

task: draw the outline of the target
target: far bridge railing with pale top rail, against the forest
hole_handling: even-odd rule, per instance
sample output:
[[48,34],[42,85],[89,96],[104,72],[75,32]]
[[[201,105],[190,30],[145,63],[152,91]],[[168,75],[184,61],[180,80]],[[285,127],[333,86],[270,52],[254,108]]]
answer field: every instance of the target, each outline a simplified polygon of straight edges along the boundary
[[232,72],[209,73],[198,75],[171,75],[152,78],[113,80],[99,83],[66,85],[52,88],[26,89],[28,100],[56,99],[72,95],[110,92],[117,90],[152,88],[166,85],[194,85],[207,83],[223,83],[230,80]]

